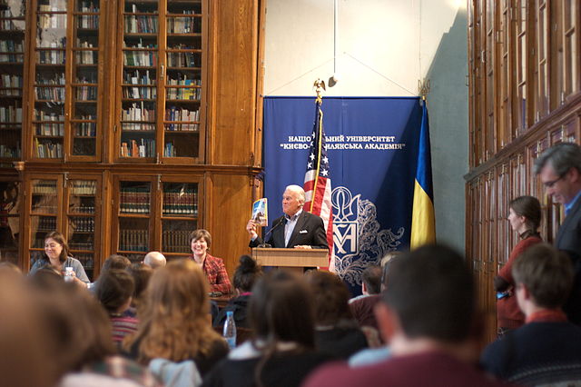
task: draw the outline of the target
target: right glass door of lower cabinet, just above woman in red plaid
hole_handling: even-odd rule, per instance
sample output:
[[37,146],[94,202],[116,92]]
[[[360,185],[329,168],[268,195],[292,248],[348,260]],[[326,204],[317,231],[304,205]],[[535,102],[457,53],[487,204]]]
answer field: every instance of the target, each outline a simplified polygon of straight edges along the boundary
[[167,255],[192,253],[188,241],[198,228],[198,184],[162,183],[162,247]]

